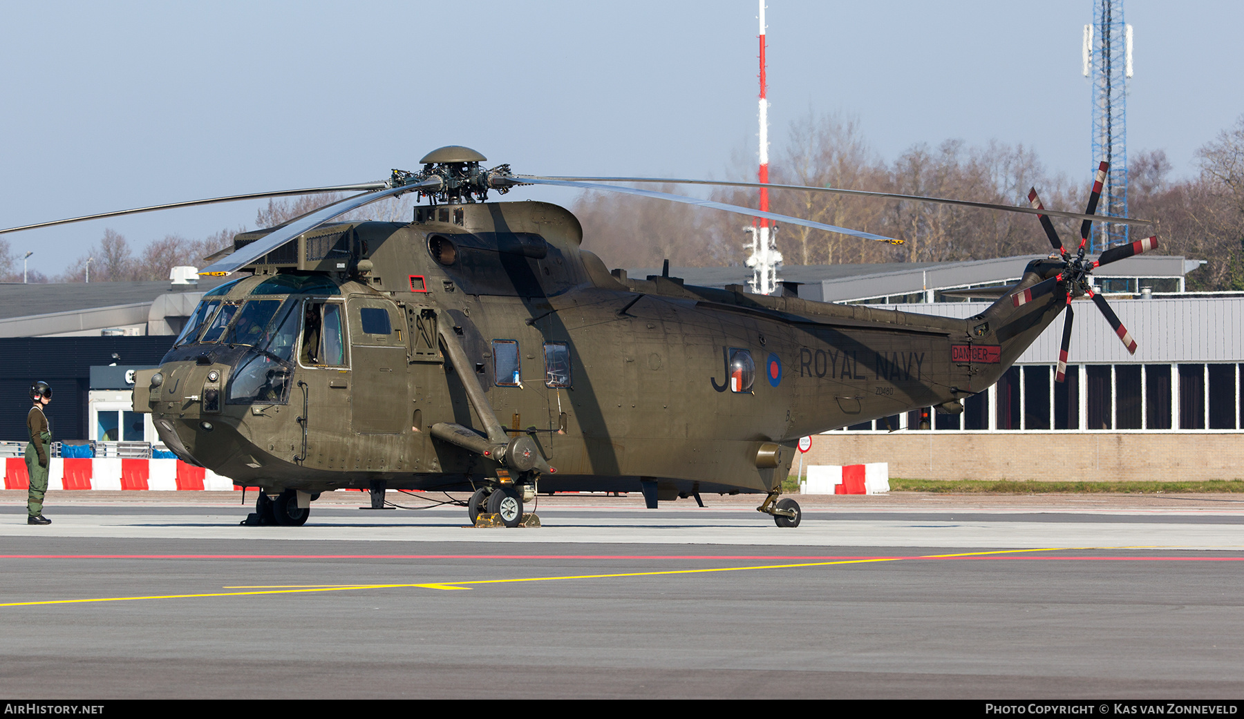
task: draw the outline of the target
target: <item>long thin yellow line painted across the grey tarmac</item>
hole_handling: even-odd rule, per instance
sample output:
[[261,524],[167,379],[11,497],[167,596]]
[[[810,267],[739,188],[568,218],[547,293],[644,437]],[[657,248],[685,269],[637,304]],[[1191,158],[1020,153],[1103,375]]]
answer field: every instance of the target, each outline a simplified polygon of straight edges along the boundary
[[[389,590],[389,588],[428,588],[428,590],[469,590],[465,585],[503,585],[503,583],[515,583],[515,582],[551,582],[561,580],[610,580],[610,578],[622,578],[622,577],[656,577],[666,575],[698,575],[709,572],[743,572],[750,570],[790,570],[801,567],[825,567],[832,565],[862,565],[862,564],[875,564],[875,562],[898,562],[903,560],[933,560],[933,559],[950,559],[950,557],[972,557],[972,556],[984,556],[984,555],[1009,555],[1019,552],[1052,552],[1061,551],[1069,547],[1046,547],[1046,549],[1029,549],[1029,550],[993,550],[983,552],[962,552],[953,555],[924,555],[918,557],[870,557],[862,560],[835,560],[829,562],[801,562],[794,565],[760,565],[760,566],[745,566],[745,567],[708,567],[699,570],[662,570],[651,572],[621,572],[610,575],[571,575],[571,576],[557,576],[557,577],[518,577],[510,580],[466,580],[462,582],[424,582],[424,583],[409,583],[409,585],[285,585],[275,587],[254,587],[256,591],[248,592],[211,592],[203,595],[153,595],[143,597],[98,597],[90,600],[47,600],[40,602],[7,602],[0,603],[0,607],[29,607],[35,605],[80,605],[87,602],[133,602],[138,600],[195,600],[205,597],[244,597],[255,595],[294,595],[301,592],[342,592],[347,590]],[[1082,547],[1081,547],[1082,549]],[[221,587],[221,588],[251,588],[251,587]]]

